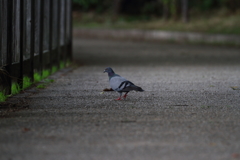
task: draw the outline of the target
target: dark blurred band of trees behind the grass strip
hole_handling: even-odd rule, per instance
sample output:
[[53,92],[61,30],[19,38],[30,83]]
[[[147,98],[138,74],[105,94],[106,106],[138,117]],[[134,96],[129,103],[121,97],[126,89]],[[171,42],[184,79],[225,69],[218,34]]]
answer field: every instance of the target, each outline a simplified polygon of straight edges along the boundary
[[[209,13],[224,9],[226,13],[240,11],[240,0],[73,0],[81,12],[123,14],[135,18],[163,17],[165,20],[189,21],[189,13]],[[201,14],[202,15],[202,14]]]

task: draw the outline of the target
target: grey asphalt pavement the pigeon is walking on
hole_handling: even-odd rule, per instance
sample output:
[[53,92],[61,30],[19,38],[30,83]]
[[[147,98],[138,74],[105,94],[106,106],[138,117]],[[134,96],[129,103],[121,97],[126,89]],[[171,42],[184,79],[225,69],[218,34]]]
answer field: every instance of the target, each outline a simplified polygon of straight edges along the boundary
[[[80,67],[13,98],[27,95],[0,119],[0,159],[240,159],[239,51],[75,39]],[[101,94],[108,66],[145,92]]]

